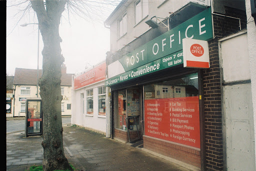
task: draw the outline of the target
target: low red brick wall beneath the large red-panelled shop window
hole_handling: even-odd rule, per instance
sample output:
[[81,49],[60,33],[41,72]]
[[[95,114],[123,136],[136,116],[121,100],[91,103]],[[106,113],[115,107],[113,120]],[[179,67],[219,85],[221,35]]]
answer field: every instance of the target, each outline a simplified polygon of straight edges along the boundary
[[200,151],[143,137],[143,148],[200,168]]

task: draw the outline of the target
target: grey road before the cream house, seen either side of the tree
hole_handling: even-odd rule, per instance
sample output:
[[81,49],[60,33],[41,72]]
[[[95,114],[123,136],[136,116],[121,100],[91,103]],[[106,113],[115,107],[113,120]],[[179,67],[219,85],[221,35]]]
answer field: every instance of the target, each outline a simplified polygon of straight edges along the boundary
[[[62,117],[62,125],[70,124],[71,117]],[[11,133],[15,131],[25,130],[25,120],[8,120],[6,121],[6,133]]]

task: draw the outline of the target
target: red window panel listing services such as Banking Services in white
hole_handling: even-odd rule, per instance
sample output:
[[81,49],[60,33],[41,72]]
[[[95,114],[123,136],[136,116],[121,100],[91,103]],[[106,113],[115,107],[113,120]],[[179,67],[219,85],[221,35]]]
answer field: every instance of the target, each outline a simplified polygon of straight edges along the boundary
[[144,100],[144,112],[146,136],[200,148],[198,96]]

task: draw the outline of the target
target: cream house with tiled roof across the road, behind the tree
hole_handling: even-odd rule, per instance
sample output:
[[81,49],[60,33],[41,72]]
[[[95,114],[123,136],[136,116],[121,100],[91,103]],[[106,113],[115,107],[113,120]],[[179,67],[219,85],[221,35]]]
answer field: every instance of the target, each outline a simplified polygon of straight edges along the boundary
[[[42,70],[38,70],[38,78]],[[66,66],[61,67],[61,115],[71,115],[72,74],[66,73]],[[38,97],[40,97],[38,87]],[[13,79],[13,112],[8,117],[25,116],[25,101],[37,97],[37,69],[16,68]]]

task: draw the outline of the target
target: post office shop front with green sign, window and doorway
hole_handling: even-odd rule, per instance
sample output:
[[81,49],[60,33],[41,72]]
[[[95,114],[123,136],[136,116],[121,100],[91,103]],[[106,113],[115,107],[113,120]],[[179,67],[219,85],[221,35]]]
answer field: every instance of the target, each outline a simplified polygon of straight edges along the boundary
[[193,170],[205,166],[202,69],[209,68],[211,21],[206,8],[107,63],[113,139],[142,139],[144,151]]

